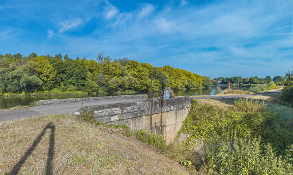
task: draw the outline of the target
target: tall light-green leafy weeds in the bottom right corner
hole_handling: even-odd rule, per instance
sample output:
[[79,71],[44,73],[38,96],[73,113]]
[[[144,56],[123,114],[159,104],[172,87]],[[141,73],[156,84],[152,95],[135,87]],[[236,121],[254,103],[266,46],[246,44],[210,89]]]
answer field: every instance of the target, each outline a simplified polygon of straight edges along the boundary
[[236,137],[236,132],[222,137],[214,133],[205,139],[202,158],[210,174],[217,175],[289,175],[293,165],[276,156],[270,144],[261,150],[261,138]]

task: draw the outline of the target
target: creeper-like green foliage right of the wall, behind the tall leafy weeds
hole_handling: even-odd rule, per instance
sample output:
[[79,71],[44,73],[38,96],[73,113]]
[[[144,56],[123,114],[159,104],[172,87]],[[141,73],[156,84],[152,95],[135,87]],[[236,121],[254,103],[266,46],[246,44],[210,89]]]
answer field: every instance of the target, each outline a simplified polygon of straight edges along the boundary
[[248,99],[235,100],[234,110],[226,110],[209,104],[198,105],[192,102],[188,116],[179,132],[189,134],[184,143],[186,147],[197,146],[194,139],[211,137],[213,132],[224,134],[228,129],[237,132],[238,137],[262,137],[262,144],[270,143],[278,154],[285,154],[288,146],[293,145],[293,117],[284,117],[266,109],[259,101]]

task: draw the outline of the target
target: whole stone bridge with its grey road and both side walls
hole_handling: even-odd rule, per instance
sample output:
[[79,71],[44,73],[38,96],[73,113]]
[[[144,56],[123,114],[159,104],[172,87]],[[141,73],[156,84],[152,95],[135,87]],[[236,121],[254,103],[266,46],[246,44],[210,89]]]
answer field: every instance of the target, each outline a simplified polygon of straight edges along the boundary
[[84,111],[93,113],[96,121],[110,124],[126,123],[131,129],[146,129],[154,134],[162,133],[167,143],[173,142],[188,115],[192,98],[164,99],[162,108],[160,100],[153,100],[152,110],[146,98],[146,94],[141,94],[40,100],[37,101],[36,107],[0,112],[0,121],[51,114],[74,113],[79,116]]

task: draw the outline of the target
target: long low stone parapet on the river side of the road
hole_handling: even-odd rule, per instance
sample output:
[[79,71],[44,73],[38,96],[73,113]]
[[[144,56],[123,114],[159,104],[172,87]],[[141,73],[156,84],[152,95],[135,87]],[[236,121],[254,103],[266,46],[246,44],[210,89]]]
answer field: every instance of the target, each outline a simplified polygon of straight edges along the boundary
[[104,97],[86,97],[86,98],[65,98],[65,99],[53,99],[53,100],[39,100],[37,105],[52,105],[59,103],[75,103],[83,101],[100,101],[100,100],[117,100],[117,99],[131,99],[131,98],[147,98],[146,94],[138,95],[116,95],[116,96],[104,96]]

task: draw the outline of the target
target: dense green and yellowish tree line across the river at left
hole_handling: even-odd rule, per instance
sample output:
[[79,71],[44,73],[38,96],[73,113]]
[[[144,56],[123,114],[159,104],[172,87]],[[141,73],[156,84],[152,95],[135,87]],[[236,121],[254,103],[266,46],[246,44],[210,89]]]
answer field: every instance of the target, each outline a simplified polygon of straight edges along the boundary
[[85,91],[88,93],[202,87],[203,77],[190,71],[165,65],[153,67],[128,58],[113,59],[100,52],[96,60],[71,59],[60,54],[28,57],[0,54],[0,91]]

